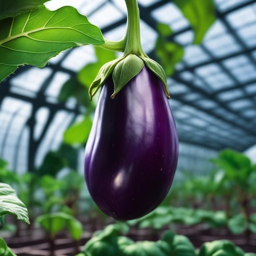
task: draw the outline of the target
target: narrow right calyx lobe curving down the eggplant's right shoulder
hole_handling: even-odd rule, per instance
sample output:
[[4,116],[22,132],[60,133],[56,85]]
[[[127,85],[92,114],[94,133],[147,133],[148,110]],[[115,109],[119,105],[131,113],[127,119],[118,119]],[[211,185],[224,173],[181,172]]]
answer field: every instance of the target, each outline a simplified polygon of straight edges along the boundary
[[146,66],[159,78],[161,79],[161,81],[163,82],[164,85],[164,90],[165,90],[165,94],[166,97],[168,99],[170,99],[170,94],[169,94],[169,90],[168,90],[168,84],[167,84],[167,78],[166,78],[166,74],[164,72],[164,69],[161,65],[159,65],[156,61],[150,59],[150,58],[146,58],[146,57],[140,57],[144,63],[146,64]]

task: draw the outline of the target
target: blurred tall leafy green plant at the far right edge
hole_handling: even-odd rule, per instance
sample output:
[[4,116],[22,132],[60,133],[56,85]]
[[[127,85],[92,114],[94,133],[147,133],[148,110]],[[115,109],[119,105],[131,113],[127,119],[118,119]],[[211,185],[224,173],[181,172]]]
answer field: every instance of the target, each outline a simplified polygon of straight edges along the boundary
[[218,158],[211,159],[224,172],[222,182],[225,188],[232,189],[234,198],[240,205],[243,216],[235,216],[229,220],[229,227],[235,234],[245,231],[247,239],[255,231],[255,222],[250,217],[250,204],[255,196],[253,181],[256,176],[256,164],[242,153],[234,150],[222,150]]

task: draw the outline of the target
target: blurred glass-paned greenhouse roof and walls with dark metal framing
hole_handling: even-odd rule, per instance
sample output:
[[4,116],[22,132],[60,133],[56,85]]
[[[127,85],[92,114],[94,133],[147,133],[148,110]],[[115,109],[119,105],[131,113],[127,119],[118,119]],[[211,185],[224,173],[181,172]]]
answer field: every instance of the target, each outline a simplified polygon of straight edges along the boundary
[[[255,0],[215,0],[217,20],[199,45],[193,44],[190,23],[173,2],[138,3],[146,54],[156,56],[159,22],[170,26],[169,39],[184,48],[182,61],[168,77],[180,141],[238,151],[256,144]],[[56,9],[60,4],[76,7],[109,40],[125,34],[124,1],[52,0],[46,6]],[[92,46],[74,47],[43,69],[26,65],[0,83],[0,154],[13,168],[27,168],[29,152],[40,164],[47,151],[58,147],[65,129],[80,118],[83,110],[76,100],[60,103],[58,95],[70,77],[94,61]]]

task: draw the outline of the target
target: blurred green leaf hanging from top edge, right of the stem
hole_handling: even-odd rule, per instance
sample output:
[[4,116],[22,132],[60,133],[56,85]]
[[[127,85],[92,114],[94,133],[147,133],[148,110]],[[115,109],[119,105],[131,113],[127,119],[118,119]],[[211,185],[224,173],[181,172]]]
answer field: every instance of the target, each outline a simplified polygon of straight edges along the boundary
[[194,30],[194,44],[200,44],[205,33],[216,20],[213,0],[174,0]]

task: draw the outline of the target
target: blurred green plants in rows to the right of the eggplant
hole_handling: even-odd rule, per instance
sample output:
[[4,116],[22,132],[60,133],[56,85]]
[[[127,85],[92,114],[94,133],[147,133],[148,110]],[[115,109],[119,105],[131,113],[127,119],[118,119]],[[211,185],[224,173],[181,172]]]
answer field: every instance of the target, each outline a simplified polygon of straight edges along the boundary
[[210,159],[216,169],[207,176],[191,176],[173,184],[155,211],[130,221],[140,228],[161,229],[171,223],[211,228],[227,226],[233,234],[256,234],[256,164],[234,150],[223,150]]

